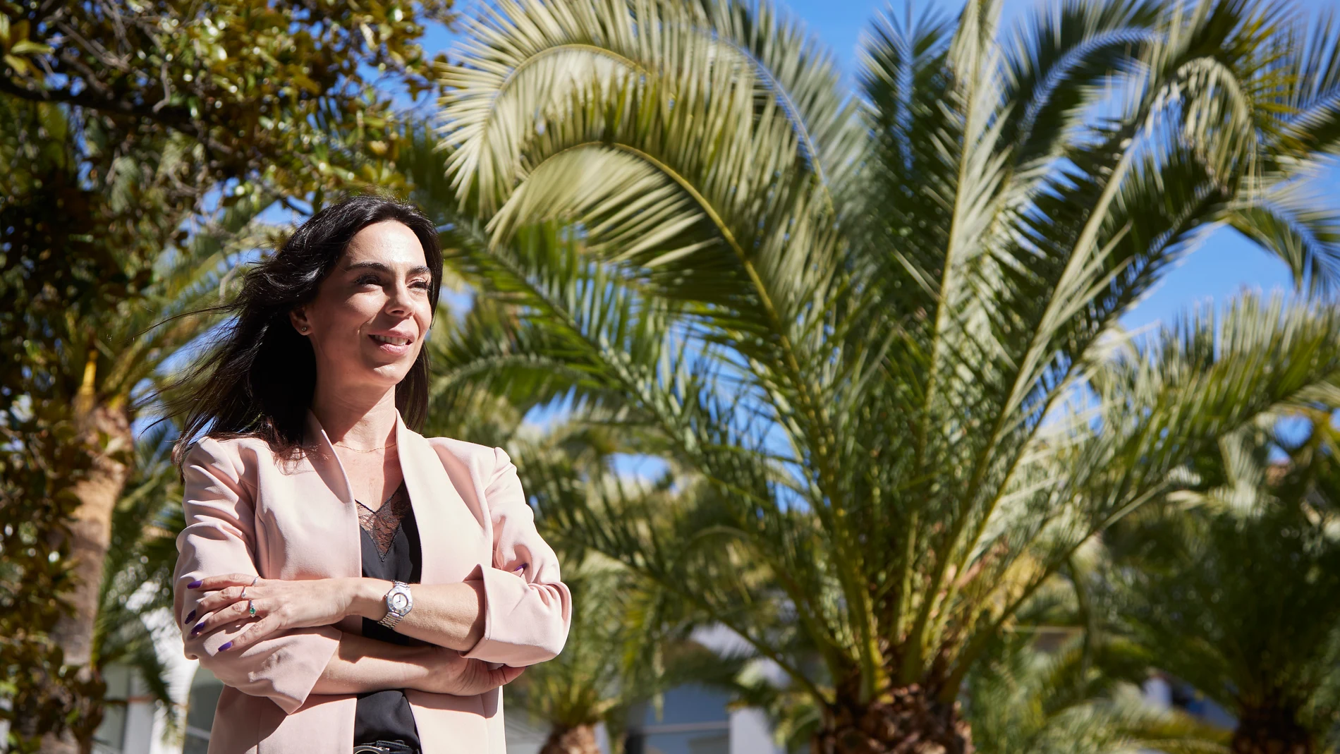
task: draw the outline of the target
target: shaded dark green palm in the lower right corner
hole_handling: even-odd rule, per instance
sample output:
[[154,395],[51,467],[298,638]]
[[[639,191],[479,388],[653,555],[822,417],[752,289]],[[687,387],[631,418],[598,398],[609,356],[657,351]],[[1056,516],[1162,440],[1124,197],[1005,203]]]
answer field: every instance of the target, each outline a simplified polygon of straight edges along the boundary
[[1199,485],[1114,542],[1127,631],[1237,717],[1233,754],[1340,747],[1340,433],[1311,419],[1301,442],[1225,438]]

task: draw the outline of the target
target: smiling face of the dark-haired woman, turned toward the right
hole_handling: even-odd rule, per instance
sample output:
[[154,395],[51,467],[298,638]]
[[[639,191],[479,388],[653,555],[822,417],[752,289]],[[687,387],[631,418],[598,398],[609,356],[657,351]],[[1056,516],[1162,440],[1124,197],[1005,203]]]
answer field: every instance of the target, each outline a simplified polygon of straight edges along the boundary
[[318,382],[385,390],[405,379],[433,321],[431,285],[413,230],[394,220],[359,230],[316,300],[289,315],[312,342]]

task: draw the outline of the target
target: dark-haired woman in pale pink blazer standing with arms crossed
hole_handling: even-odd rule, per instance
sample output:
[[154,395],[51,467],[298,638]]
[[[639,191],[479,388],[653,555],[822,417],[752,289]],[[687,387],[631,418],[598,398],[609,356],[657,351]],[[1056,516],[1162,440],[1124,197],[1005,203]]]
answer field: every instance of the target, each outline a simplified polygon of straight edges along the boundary
[[414,431],[441,275],[426,217],[350,198],[247,275],[197,370],[174,604],[225,684],[212,754],[505,754],[500,687],[563,648],[516,467]]

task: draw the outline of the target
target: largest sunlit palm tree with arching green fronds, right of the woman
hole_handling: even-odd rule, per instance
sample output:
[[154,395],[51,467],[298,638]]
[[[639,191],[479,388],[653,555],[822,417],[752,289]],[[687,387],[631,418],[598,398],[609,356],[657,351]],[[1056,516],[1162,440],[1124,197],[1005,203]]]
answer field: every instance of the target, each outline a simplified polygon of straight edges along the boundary
[[878,21],[851,95],[765,1],[504,0],[442,68],[452,264],[512,317],[461,379],[618,415],[712,487],[532,492],[776,662],[816,754],[970,751],[957,699],[1018,607],[1340,376],[1336,312],[1256,299],[1116,348],[1218,224],[1335,287],[1297,185],[1340,138],[1335,29],[998,11]]

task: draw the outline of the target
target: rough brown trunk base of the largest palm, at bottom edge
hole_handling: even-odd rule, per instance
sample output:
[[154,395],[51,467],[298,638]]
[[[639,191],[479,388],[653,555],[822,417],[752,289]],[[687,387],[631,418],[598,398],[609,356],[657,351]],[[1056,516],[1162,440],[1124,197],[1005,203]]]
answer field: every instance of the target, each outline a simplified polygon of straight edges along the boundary
[[839,700],[812,754],[973,754],[972,731],[958,704],[943,704],[919,686],[894,690],[868,704]]

